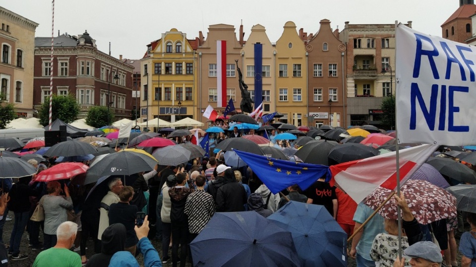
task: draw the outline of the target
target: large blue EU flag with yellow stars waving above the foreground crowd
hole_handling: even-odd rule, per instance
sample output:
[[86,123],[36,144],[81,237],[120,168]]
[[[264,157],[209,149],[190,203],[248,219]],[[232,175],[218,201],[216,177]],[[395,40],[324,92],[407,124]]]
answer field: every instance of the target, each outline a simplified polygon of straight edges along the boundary
[[331,171],[324,165],[267,158],[236,149],[233,151],[246,162],[253,173],[266,184],[273,194],[277,194],[293,184],[297,184],[302,190],[305,190],[321,177],[325,177],[326,181],[331,179]]

